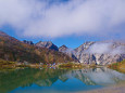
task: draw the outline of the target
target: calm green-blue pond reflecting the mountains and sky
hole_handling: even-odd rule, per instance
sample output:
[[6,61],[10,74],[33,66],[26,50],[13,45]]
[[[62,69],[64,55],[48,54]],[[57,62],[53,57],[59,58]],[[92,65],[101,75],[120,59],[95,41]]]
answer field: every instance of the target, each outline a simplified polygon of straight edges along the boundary
[[73,93],[125,81],[125,75],[108,68],[16,69],[0,71],[0,93]]

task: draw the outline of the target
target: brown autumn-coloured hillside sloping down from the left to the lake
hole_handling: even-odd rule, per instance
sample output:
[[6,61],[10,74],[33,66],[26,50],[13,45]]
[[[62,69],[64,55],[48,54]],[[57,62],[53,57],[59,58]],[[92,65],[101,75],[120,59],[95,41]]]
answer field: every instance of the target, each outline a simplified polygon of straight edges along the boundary
[[0,31],[0,58],[29,63],[66,63],[74,61],[64,53],[24,43]]

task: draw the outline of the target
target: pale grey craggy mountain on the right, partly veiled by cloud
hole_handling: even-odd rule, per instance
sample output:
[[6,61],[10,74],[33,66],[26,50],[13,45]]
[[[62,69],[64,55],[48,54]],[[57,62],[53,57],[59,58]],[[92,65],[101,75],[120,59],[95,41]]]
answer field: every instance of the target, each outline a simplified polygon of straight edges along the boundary
[[72,53],[84,64],[108,65],[125,58],[125,43],[118,41],[85,42],[72,51],[67,50],[62,52],[70,56]]

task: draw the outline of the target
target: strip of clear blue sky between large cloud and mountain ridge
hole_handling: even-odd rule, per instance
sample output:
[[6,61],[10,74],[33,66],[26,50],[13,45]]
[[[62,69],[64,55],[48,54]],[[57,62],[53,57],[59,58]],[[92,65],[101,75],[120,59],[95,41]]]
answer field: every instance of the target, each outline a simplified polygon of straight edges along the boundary
[[52,41],[55,45],[61,46],[65,44],[68,48],[77,48],[80,44],[83,44],[86,41],[100,41],[100,38],[96,37],[89,37],[89,36],[67,36],[67,37],[61,37],[61,38],[55,38],[55,39],[45,39],[45,38],[26,38],[26,37],[20,37],[15,34],[14,29],[12,29],[10,26],[4,26],[1,27],[0,30],[7,32],[8,35],[23,41],[23,40],[28,40],[33,41],[34,43],[37,43],[39,41]]

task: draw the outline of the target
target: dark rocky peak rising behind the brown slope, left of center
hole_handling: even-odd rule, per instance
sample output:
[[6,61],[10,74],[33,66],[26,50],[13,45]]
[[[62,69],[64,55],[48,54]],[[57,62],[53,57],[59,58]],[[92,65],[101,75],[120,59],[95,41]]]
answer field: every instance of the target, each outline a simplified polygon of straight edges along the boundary
[[38,43],[36,43],[36,46],[59,51],[58,46],[53,44],[51,41],[45,41],[45,42],[39,41]]

